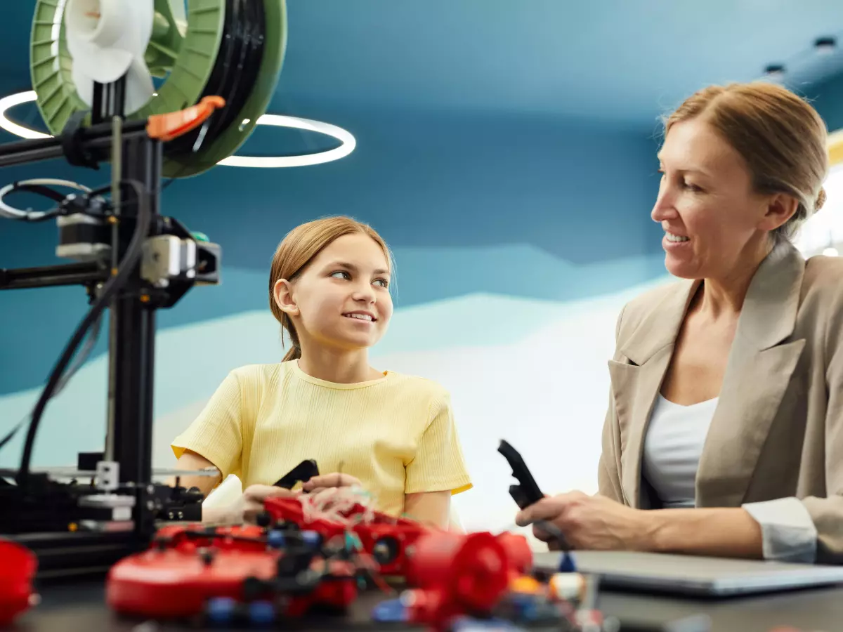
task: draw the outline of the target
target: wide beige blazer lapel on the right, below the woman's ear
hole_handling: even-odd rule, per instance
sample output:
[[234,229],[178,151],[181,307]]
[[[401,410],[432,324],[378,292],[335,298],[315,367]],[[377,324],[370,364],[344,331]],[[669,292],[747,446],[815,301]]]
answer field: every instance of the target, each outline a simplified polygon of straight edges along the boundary
[[697,470],[697,506],[744,501],[805,346],[803,339],[786,341],[796,324],[804,270],[802,254],[781,244],[749,284]]

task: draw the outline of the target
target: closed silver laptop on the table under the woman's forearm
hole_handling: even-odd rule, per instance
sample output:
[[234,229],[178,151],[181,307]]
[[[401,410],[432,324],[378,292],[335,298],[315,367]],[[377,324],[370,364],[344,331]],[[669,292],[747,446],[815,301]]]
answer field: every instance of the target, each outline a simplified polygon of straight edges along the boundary
[[[701,597],[730,597],[843,584],[843,566],[787,564],[631,551],[574,551],[577,571],[601,586]],[[561,553],[536,552],[537,570],[556,570]]]

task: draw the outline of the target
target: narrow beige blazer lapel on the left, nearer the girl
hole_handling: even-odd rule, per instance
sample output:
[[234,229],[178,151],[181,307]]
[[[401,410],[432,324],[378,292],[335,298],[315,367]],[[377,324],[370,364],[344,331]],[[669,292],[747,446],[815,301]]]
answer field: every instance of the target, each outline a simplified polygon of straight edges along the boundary
[[620,348],[628,362],[609,361],[620,426],[621,485],[626,504],[632,507],[647,508],[641,489],[644,437],[679,328],[699,286],[700,281],[680,281],[679,290],[656,306]]

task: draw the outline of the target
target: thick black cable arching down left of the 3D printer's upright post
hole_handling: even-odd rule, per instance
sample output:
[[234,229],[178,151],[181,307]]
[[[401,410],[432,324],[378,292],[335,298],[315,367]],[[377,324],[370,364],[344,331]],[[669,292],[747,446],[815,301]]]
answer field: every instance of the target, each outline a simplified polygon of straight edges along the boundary
[[103,287],[102,292],[100,292],[99,297],[96,298],[94,305],[91,306],[89,312],[82,319],[82,322],[78,324],[76,331],[73,332],[71,339],[67,342],[67,345],[62,352],[62,356],[59,358],[58,362],[56,362],[56,366],[53,367],[50,373],[50,378],[47,379],[46,386],[44,387],[44,390],[41,391],[38,402],[35,404],[35,408],[32,411],[32,418],[30,419],[30,426],[26,432],[24,453],[20,459],[20,468],[18,471],[18,485],[20,487],[24,487],[29,478],[32,449],[35,446],[35,435],[38,432],[38,426],[40,425],[41,417],[44,415],[47,402],[55,394],[56,387],[62,381],[62,373],[71,362],[73,355],[76,353],[77,347],[85,337],[85,333],[92,325],[94,325],[94,323],[99,319],[100,314],[103,313],[105,308],[107,308],[110,304],[111,297],[113,297],[116,292],[126,285],[126,281],[129,280],[129,276],[132,274],[134,266],[142,254],[143,241],[147,237],[151,222],[151,212],[149,209],[149,201],[147,199],[147,191],[144,189],[144,186],[136,180],[123,180],[123,184],[131,186],[135,190],[135,195],[137,195],[137,223],[135,225],[134,233],[132,233],[132,240],[129,242],[126,254],[118,266],[119,271],[115,276],[112,276],[108,281],[106,281],[105,286]]

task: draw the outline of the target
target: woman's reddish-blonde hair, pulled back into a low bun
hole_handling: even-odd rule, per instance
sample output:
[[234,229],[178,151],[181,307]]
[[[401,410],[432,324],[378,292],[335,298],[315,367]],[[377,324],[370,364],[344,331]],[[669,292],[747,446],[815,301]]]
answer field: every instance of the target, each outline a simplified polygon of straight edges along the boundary
[[700,116],[744,158],[756,191],[796,198],[797,212],[773,232],[776,241],[792,239],[825,201],[828,131],[817,110],[775,83],[710,86],[667,117],[665,135]]

